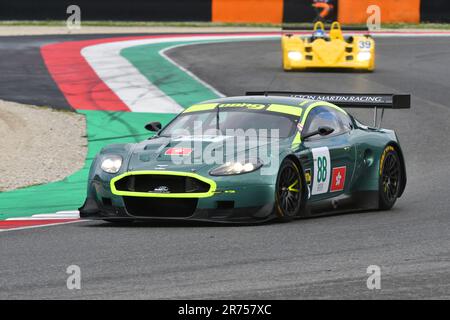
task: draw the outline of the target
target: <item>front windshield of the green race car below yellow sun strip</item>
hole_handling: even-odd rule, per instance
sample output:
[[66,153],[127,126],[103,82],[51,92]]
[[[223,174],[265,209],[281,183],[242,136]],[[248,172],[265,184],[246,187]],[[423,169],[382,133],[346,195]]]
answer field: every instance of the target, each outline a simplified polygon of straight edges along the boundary
[[295,116],[275,112],[220,109],[217,114],[214,109],[181,114],[161,131],[160,136],[204,135],[206,131],[218,128],[220,135],[233,135],[236,130],[266,129],[268,136],[271,136],[271,130],[278,130],[280,138],[287,138],[294,134],[296,121]]

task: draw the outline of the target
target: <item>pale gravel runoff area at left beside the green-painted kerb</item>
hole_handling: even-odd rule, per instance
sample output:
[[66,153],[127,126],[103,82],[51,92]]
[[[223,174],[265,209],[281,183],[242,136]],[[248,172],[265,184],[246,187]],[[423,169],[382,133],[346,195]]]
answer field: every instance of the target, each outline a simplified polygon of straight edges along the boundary
[[85,135],[83,115],[0,100],[0,192],[61,180],[81,169]]

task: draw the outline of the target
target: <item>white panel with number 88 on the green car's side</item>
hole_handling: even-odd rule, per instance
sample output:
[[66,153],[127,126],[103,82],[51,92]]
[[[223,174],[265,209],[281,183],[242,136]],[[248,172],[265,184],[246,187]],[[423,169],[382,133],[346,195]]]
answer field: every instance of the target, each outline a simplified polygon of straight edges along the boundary
[[314,180],[312,186],[312,195],[328,192],[330,185],[330,150],[327,147],[313,148],[314,158]]

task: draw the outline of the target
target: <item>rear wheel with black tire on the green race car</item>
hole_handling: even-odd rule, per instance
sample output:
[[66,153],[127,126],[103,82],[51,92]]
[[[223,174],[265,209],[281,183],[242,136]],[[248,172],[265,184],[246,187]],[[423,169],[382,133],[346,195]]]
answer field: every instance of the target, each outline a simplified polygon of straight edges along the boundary
[[380,159],[379,179],[379,209],[391,209],[400,193],[403,174],[403,164],[397,150],[393,146],[387,146]]

